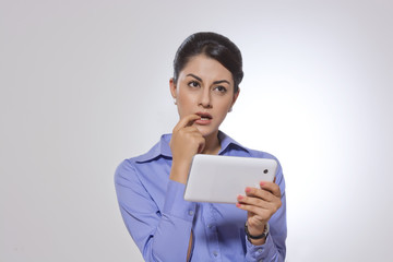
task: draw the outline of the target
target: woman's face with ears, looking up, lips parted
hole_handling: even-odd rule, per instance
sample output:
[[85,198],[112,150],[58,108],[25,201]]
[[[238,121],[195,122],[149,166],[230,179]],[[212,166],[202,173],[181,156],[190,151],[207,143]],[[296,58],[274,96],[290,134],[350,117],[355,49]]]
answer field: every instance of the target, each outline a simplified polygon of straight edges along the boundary
[[170,80],[180,118],[201,116],[193,124],[203,136],[216,135],[219,124],[235,104],[231,73],[218,61],[204,55],[192,57],[180,71],[177,83]]

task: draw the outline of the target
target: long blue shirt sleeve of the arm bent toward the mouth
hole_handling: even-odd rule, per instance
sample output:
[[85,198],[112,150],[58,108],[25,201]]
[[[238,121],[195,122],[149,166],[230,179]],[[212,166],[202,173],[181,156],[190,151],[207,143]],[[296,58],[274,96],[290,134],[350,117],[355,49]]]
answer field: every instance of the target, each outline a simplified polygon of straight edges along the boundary
[[169,180],[159,209],[132,165],[124,160],[115,175],[120,212],[130,235],[146,261],[184,262],[195,203],[183,200],[184,184]]

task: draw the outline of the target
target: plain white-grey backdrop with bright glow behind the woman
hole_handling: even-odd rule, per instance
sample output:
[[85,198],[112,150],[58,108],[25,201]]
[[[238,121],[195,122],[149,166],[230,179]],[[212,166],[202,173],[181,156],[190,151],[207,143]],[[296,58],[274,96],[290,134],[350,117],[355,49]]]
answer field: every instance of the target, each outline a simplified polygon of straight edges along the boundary
[[393,2],[0,0],[0,261],[143,261],[114,171],[178,120],[198,31],[242,50],[222,130],[276,155],[287,261],[392,261]]

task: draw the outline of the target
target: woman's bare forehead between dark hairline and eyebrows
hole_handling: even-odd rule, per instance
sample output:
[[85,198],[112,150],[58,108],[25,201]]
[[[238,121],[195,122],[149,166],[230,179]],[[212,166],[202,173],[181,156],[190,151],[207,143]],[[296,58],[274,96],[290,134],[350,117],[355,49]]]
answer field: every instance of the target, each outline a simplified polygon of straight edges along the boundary
[[206,57],[205,55],[198,55],[191,57],[186,67],[180,71],[180,79],[186,78],[187,74],[192,73],[201,79],[206,80],[227,80],[233,83],[233,75],[217,60]]

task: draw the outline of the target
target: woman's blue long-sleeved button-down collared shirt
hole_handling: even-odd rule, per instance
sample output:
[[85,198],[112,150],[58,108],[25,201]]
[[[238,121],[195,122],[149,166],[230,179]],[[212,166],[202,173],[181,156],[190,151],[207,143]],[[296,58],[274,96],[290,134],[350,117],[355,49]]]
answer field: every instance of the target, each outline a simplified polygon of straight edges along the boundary
[[[218,138],[219,155],[276,159],[241,146],[223,132]],[[190,261],[284,261],[287,228],[281,165],[275,182],[283,205],[269,221],[266,242],[253,246],[245,234],[246,211],[235,204],[184,201],[184,184],[169,180],[169,141],[170,134],[164,134],[146,154],[123,160],[115,175],[121,215],[145,261],[186,262],[191,230]]]

